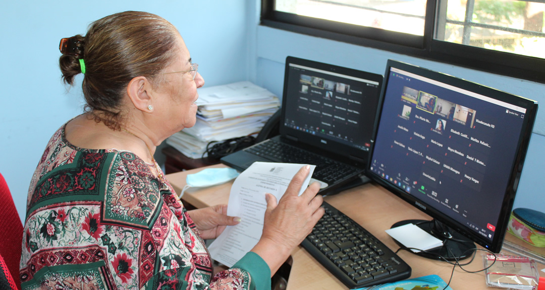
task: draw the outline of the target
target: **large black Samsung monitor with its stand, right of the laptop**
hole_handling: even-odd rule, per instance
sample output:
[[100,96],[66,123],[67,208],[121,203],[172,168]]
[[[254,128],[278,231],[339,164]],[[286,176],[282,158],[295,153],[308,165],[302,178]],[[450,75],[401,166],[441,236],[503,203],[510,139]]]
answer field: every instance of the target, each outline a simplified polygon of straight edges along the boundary
[[379,111],[367,173],[433,218],[411,221],[445,241],[421,255],[499,252],[537,102],[388,60]]

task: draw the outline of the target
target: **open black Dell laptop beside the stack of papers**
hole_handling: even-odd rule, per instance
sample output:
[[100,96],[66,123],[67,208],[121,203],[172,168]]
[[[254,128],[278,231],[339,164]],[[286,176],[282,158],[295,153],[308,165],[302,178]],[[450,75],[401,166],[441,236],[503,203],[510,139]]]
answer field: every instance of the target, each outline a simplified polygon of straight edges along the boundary
[[221,158],[237,170],[256,161],[316,165],[320,194],[363,175],[383,76],[286,58],[280,135]]

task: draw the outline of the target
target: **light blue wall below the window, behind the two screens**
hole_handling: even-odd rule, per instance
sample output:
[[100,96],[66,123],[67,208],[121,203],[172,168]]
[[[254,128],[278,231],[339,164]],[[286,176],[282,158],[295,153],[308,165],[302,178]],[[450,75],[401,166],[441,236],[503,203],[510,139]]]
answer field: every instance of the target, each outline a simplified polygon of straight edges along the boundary
[[[384,75],[387,59],[391,58],[530,98],[538,101],[541,106],[545,104],[545,85],[539,83],[286,32],[270,27],[258,26],[256,34],[257,69],[255,82],[268,88],[278,96],[282,95],[286,57],[292,55],[380,73],[381,75]],[[527,207],[545,212],[543,188],[538,182],[545,177],[545,137],[543,135],[545,135],[545,112],[542,107],[538,109],[534,134],[532,134],[530,140],[530,147],[513,208]],[[497,158],[501,158],[501,156]]]

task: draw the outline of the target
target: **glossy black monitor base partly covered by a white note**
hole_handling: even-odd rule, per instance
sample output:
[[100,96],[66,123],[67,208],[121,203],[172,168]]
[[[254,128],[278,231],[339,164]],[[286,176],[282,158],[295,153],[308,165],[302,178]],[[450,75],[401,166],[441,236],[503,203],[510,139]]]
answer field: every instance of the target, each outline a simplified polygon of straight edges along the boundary
[[[392,227],[398,227],[406,224],[415,224],[416,226],[420,227],[420,229],[444,241],[443,246],[429,249],[427,251],[413,252],[411,250],[408,250],[415,255],[419,255],[433,260],[443,260],[439,257],[440,255],[448,261],[455,261],[468,258],[469,256],[473,255],[473,252],[476,249],[475,244],[471,242],[471,240],[462,236],[456,231],[453,231],[452,229],[450,229],[450,227],[444,225],[437,220],[402,220],[393,224]],[[396,243],[404,248],[404,246],[401,243],[397,242],[397,240]]]

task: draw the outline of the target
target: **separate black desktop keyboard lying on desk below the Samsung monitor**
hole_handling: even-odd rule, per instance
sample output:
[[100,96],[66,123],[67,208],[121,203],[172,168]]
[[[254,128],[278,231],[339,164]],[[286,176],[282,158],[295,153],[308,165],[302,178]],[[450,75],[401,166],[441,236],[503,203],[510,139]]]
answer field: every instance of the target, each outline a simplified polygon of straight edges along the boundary
[[348,288],[406,279],[411,268],[380,240],[324,202],[325,214],[301,245]]

